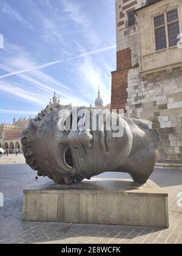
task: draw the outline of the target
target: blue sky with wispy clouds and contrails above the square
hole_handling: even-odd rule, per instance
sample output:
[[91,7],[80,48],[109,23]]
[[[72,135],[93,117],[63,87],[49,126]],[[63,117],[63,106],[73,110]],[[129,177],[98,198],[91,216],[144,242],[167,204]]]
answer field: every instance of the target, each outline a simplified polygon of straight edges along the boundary
[[110,103],[115,0],[0,0],[0,123],[62,104]]

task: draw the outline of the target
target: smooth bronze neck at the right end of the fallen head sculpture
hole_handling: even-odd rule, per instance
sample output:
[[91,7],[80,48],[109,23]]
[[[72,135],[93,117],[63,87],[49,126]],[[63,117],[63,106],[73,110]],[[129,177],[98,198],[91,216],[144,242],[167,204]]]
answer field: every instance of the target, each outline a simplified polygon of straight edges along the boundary
[[131,119],[127,123],[132,130],[133,144],[122,169],[129,172],[135,182],[146,183],[158,160],[160,135],[156,129],[149,129],[147,123],[139,119]]

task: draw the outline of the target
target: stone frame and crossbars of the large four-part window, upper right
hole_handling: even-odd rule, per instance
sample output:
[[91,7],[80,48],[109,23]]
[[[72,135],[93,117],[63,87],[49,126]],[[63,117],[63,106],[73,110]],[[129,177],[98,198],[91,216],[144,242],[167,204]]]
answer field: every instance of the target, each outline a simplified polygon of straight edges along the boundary
[[[178,12],[178,19],[168,22],[168,21],[167,21],[167,13],[172,12],[172,11],[174,11],[174,10],[177,10],[177,12]],[[161,24],[160,26],[155,27],[155,18],[157,18],[158,16],[161,16],[161,15],[164,15],[164,24]],[[168,32],[168,26],[169,26],[170,24],[173,24],[173,23],[178,23],[179,32],[181,32],[181,28],[180,28],[180,9],[179,9],[179,7],[174,7],[174,8],[172,8],[172,9],[170,9],[170,10],[166,10],[165,12],[158,13],[157,15],[153,15],[153,16],[152,16],[152,23],[153,23],[153,34],[154,34],[153,37],[154,37],[155,52],[160,52],[160,51],[164,51],[164,50],[166,50],[166,49],[178,47],[177,44],[174,45],[174,46],[169,46],[169,32]],[[165,27],[165,32],[166,32],[166,48],[157,50],[157,49],[156,49],[156,41],[155,41],[155,30],[156,30],[156,29],[159,29],[159,28],[161,28],[161,27]]]

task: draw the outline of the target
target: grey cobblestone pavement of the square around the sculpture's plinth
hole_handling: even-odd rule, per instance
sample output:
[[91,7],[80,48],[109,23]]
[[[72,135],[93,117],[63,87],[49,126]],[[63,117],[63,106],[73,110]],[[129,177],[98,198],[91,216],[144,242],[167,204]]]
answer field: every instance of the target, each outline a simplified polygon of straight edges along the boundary
[[[8,157],[0,158],[0,192],[4,193],[4,207],[0,207],[0,243],[182,243],[182,208],[177,206],[177,194],[182,192],[181,170],[155,169],[151,176],[169,193],[169,229],[41,223],[22,222],[22,190],[30,185],[44,185],[50,180],[39,178],[36,181],[36,172],[24,164],[21,155],[19,160],[8,161]],[[108,173],[101,177],[128,176]]]

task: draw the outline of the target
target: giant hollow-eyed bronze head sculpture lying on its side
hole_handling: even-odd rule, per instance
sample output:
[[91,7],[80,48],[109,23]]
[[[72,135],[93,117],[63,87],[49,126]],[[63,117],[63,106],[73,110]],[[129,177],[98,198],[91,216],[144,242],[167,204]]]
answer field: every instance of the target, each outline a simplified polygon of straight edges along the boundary
[[148,121],[103,110],[95,114],[94,108],[48,105],[30,121],[21,142],[27,164],[56,183],[71,185],[110,171],[127,172],[143,184],[157,161],[160,135],[149,129]]

